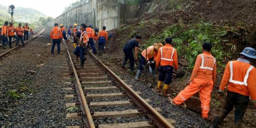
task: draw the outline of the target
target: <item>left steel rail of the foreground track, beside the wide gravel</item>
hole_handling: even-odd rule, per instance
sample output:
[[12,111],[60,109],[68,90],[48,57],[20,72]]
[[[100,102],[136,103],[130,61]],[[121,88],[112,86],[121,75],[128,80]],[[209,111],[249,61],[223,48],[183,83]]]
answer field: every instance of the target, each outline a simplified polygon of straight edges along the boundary
[[83,90],[82,90],[82,86],[81,86],[81,82],[79,81],[78,75],[76,73],[72,57],[70,55],[70,52],[69,52],[68,47],[67,47],[65,42],[64,42],[64,45],[65,45],[65,47],[67,49],[67,53],[68,53],[68,56],[69,56],[70,64],[71,64],[71,67],[73,69],[73,74],[75,76],[76,87],[78,88],[78,96],[77,97],[80,97],[79,100],[81,100],[80,102],[82,102],[82,104],[80,104],[80,108],[83,111],[83,114],[85,115],[85,118],[83,118],[83,122],[87,126],[85,128],[95,128],[95,124],[94,124],[92,116],[91,116],[91,111],[90,111],[90,109],[88,107],[86,98],[84,96],[84,93],[83,93]]

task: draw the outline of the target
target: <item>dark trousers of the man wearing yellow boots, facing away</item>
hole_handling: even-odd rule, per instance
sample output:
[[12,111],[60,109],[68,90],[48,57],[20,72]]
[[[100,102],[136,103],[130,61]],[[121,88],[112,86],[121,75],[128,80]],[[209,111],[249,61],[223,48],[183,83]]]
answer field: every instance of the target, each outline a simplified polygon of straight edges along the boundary
[[174,67],[170,65],[161,66],[158,80],[169,85],[172,82]]

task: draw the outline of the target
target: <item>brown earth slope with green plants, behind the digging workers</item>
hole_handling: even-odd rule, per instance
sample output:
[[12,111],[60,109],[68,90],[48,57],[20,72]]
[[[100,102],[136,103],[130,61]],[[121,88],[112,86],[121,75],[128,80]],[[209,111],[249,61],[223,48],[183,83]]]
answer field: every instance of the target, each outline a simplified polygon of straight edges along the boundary
[[[164,43],[165,37],[173,37],[173,46],[179,55],[180,72],[174,75],[170,92],[175,93],[186,87],[186,81],[195,63],[196,56],[201,54],[203,42],[213,46],[212,55],[217,60],[217,82],[212,91],[210,120],[219,114],[224,100],[219,101],[217,91],[226,64],[235,60],[245,47],[256,48],[256,0],[157,0],[158,7],[153,13],[127,20],[119,28],[111,30],[114,36],[106,44],[106,53],[101,57],[105,64],[120,72],[124,54],[124,44],[135,35],[143,37],[139,43],[145,49],[154,43]],[[140,53],[139,53],[140,55]],[[136,62],[135,68],[139,61]],[[255,65],[255,63],[253,64]],[[128,64],[126,65],[128,69]],[[126,73],[131,75],[131,73]],[[134,74],[132,74],[134,75]],[[145,80],[142,74],[141,81]],[[195,96],[198,96],[195,95]],[[255,128],[256,111],[253,105],[248,107],[243,121],[243,128]],[[233,115],[229,114],[220,128],[232,123]]]

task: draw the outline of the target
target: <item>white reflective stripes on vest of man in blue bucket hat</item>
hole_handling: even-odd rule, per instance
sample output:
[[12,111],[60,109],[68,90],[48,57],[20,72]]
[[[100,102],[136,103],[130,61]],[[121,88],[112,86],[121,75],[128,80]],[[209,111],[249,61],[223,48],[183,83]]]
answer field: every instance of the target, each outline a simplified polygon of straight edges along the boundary
[[233,80],[233,61],[230,61],[229,66],[230,66],[230,78],[229,78],[229,82],[232,82],[232,83],[235,83],[235,84],[239,84],[239,85],[245,85],[245,86],[247,86],[247,79],[248,79],[248,77],[249,77],[250,71],[253,69],[253,65],[251,65],[251,66],[248,68],[243,82],[239,82],[239,81]]

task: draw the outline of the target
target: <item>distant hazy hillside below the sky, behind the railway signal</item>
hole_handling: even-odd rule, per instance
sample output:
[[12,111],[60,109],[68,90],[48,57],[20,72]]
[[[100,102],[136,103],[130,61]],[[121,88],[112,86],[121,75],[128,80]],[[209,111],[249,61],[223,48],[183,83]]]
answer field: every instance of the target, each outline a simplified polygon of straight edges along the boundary
[[[0,20],[10,21],[11,16],[8,13],[8,8],[9,7],[7,6],[0,5]],[[36,9],[21,8],[21,7],[15,7],[14,9],[13,19],[14,21],[17,21],[17,22],[18,21],[29,22],[29,19],[30,19],[30,23],[33,23],[38,21],[40,17],[46,18],[46,15],[40,11],[37,11]]]

